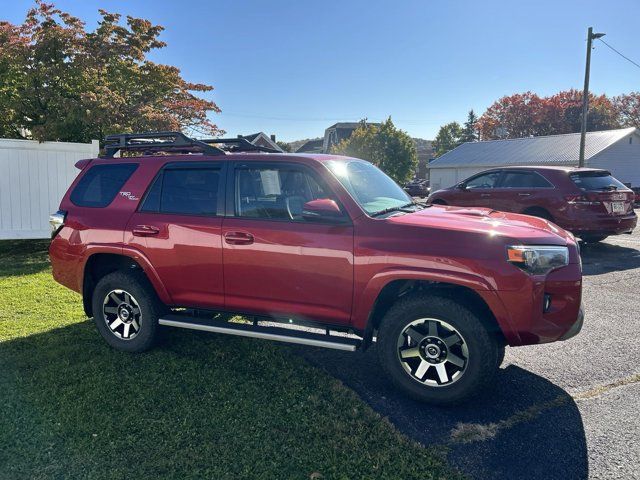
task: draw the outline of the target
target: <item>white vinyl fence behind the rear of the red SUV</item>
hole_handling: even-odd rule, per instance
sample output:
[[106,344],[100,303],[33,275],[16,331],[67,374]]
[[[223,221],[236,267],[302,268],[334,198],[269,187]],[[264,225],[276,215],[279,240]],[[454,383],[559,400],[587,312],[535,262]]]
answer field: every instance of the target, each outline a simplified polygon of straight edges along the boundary
[[48,238],[49,214],[78,175],[75,163],[98,156],[91,143],[0,138],[0,239]]

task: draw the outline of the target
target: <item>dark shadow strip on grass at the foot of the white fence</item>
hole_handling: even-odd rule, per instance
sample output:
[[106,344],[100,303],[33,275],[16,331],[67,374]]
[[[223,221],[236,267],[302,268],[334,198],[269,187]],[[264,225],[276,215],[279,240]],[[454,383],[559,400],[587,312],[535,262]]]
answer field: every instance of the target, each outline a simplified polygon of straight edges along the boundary
[[49,268],[49,240],[0,240],[0,278]]

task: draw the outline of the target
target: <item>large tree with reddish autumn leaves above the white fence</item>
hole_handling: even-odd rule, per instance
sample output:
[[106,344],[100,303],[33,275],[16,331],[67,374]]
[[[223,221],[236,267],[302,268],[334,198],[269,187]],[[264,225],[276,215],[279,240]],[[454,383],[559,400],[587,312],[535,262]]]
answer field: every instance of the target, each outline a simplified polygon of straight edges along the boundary
[[220,133],[197,93],[210,85],[147,59],[163,27],[100,10],[97,28],[36,1],[21,25],[0,22],[0,136],[87,142],[128,131]]

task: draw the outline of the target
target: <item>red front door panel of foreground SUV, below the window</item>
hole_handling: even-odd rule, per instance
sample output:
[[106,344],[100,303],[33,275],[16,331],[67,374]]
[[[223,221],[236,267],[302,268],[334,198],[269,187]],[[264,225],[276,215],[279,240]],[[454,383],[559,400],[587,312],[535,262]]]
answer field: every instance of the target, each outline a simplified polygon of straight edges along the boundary
[[228,310],[349,323],[352,226],[225,218],[222,231]]

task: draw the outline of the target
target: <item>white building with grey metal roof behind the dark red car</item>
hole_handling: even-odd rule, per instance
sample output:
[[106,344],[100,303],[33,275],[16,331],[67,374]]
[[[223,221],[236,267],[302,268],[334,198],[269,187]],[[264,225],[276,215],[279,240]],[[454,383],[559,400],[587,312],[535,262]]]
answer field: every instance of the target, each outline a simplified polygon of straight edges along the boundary
[[[577,166],[580,134],[463,143],[429,163],[431,188],[446,188],[488,168],[504,165]],[[640,131],[588,132],[585,166],[604,168],[623,183],[640,186]]]

